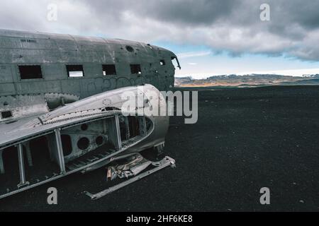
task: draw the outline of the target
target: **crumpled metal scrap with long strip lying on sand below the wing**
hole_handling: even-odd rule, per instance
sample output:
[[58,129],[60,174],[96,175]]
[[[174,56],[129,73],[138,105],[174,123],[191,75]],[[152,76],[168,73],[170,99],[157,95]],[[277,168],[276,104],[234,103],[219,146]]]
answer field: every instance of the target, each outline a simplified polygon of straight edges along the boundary
[[[86,194],[86,196],[89,196],[92,200],[96,200],[169,166],[171,166],[172,168],[175,167],[175,160],[172,157],[166,156],[159,162],[151,162],[150,160],[145,159],[144,157],[142,157],[142,155],[137,153],[136,155],[130,157],[130,159],[128,159],[128,162],[123,165],[108,167],[108,179],[129,177],[132,178],[127,179],[125,182],[112,186],[108,189],[100,191],[99,193],[91,194],[89,191],[84,191],[84,194]],[[152,169],[145,171],[145,169],[147,169],[148,167],[152,167]]]

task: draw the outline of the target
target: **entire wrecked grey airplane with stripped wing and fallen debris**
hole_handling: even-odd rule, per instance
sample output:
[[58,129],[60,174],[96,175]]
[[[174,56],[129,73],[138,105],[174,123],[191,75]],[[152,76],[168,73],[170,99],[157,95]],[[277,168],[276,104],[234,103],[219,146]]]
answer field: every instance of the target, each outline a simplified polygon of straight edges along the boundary
[[[121,94],[174,86],[177,56],[141,42],[0,30],[0,198],[117,160],[108,177],[129,178],[99,194],[174,166],[139,153],[162,151],[168,116],[125,112]],[[176,66],[174,66],[174,64]],[[145,97],[141,108],[155,106]],[[39,148],[40,147],[40,148]],[[148,169],[148,170],[147,170]]]

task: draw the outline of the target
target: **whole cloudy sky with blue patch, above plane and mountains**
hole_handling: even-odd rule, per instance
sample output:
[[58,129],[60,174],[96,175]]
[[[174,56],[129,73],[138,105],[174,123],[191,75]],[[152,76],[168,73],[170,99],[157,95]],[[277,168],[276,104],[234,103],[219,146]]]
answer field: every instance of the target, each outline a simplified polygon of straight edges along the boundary
[[319,1],[1,0],[0,28],[157,44],[178,54],[178,76],[319,73]]

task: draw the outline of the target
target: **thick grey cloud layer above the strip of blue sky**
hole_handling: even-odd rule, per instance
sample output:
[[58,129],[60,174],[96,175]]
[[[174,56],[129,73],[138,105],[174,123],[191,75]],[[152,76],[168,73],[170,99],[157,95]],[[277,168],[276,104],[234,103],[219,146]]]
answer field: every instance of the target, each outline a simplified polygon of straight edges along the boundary
[[[45,20],[56,2],[58,21]],[[145,42],[205,44],[212,52],[285,55],[317,61],[319,1],[269,0],[271,21],[259,20],[263,0],[4,0],[0,26]]]

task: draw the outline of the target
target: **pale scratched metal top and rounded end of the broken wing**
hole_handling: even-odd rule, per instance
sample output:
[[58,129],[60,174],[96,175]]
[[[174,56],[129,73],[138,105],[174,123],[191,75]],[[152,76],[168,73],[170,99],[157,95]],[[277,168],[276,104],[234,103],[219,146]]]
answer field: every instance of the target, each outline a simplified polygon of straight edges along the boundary
[[[157,93],[159,92],[152,85],[145,85],[142,86],[142,88],[145,88],[145,90],[153,90]],[[22,141],[35,135],[40,136],[41,134],[52,132],[61,126],[67,126],[86,119],[107,117],[108,115],[111,116],[121,113],[123,102],[123,100],[121,100],[121,93],[125,91],[138,93],[140,90],[135,87],[118,88],[84,98],[65,107],[55,109],[52,112],[22,117],[10,123],[2,123],[0,124],[0,150],[4,148],[5,145],[11,145],[11,143]],[[158,93],[158,95],[160,94]],[[138,95],[136,95],[136,97],[138,98]],[[106,104],[105,100],[109,100],[110,102]],[[157,102],[159,102],[159,100]],[[160,103],[161,107],[165,106],[164,100],[161,100]],[[116,107],[119,110],[103,112],[103,107]],[[148,143],[163,141],[167,132],[168,117],[150,116],[150,119],[152,119],[155,129],[149,139],[152,142],[148,141]]]

